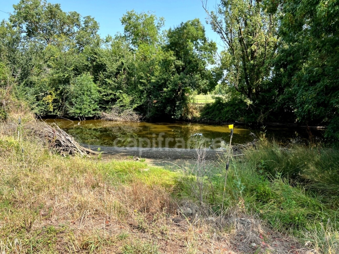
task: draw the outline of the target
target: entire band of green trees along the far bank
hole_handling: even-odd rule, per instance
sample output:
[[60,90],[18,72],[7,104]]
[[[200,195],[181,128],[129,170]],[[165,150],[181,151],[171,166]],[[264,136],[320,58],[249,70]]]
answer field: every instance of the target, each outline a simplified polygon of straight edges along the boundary
[[0,25],[0,86],[39,115],[94,117],[118,106],[164,121],[215,89],[227,101],[206,106],[207,120],[328,125],[338,139],[335,1],[221,0],[207,16],[225,44],[219,61],[198,19],[163,31],[162,17],[132,10],[123,34],[103,39],[91,16],[20,0]]

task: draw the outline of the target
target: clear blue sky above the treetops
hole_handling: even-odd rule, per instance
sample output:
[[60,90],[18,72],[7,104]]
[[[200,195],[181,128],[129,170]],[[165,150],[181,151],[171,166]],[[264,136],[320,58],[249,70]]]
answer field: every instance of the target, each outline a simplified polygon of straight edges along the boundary
[[[19,0],[1,0],[0,20],[8,19],[7,13],[13,13],[13,4]],[[105,38],[108,34],[114,36],[123,32],[120,18],[128,10],[134,9],[137,13],[154,12],[158,17],[164,17],[164,29],[176,27],[181,22],[199,18],[205,26],[206,36],[217,43],[219,51],[223,49],[220,37],[206,24],[206,13],[202,8],[201,0],[47,0],[53,4],[59,3],[64,12],[75,11],[81,16],[92,16],[100,24],[99,34]],[[215,10],[218,0],[208,0],[207,9]]]

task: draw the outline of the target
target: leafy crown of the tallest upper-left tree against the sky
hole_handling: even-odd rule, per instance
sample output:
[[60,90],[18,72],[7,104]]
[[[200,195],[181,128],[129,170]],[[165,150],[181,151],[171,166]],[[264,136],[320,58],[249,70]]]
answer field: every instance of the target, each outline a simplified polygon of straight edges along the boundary
[[77,12],[65,13],[60,4],[46,0],[20,0],[14,7],[9,21],[19,27],[24,38],[44,46],[62,44],[70,40],[83,49],[86,43],[97,38],[98,23],[86,16],[81,20]]

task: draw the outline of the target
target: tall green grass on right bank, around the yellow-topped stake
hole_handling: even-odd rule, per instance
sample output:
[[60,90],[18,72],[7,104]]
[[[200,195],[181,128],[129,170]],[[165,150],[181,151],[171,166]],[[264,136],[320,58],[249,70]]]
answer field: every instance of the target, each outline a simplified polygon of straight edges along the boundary
[[[205,177],[205,199],[220,214],[224,188],[221,165]],[[183,198],[195,197],[194,178],[179,177]],[[210,182],[212,181],[212,188]],[[339,152],[330,148],[281,148],[261,140],[233,159],[226,183],[226,214],[259,215],[274,229],[290,233],[318,253],[339,253]],[[209,193],[209,194],[208,194]]]

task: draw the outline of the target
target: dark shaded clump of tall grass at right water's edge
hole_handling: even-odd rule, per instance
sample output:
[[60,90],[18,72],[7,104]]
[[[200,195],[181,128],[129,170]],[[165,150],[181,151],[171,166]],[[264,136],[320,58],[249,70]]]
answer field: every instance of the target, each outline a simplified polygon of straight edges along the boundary
[[284,150],[276,143],[266,142],[261,142],[258,148],[260,153],[250,149],[244,159],[259,173],[269,179],[281,176],[291,184],[304,184],[308,190],[330,199],[336,196],[339,188],[339,155],[336,150],[312,146]]

